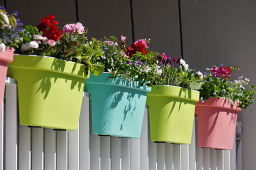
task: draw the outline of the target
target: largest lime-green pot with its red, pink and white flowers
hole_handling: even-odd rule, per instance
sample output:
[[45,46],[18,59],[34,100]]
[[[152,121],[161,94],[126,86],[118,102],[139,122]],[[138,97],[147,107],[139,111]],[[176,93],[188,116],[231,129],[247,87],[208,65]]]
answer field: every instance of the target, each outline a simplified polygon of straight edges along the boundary
[[17,80],[21,125],[77,129],[84,80],[98,69],[90,61],[101,55],[86,32],[79,22],[61,31],[53,15],[20,32],[19,54],[8,65],[8,76]]

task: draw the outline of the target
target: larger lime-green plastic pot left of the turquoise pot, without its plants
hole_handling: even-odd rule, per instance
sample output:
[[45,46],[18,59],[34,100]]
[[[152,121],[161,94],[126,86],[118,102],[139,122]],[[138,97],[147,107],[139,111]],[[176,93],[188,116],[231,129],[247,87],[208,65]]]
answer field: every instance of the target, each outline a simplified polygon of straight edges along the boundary
[[14,55],[8,76],[17,80],[20,125],[76,130],[86,67],[53,57]]

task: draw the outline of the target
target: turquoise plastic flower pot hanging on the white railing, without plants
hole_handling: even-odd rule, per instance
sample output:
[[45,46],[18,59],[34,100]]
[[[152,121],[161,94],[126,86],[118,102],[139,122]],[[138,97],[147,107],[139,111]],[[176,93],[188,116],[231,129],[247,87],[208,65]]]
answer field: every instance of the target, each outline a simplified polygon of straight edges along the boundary
[[123,138],[140,138],[147,93],[121,78],[103,73],[86,80],[85,90],[91,95],[92,133]]

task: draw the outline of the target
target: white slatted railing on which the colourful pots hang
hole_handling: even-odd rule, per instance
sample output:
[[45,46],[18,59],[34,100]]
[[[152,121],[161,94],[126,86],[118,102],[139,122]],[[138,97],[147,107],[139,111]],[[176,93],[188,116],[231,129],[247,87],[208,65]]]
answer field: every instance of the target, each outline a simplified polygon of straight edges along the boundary
[[8,78],[0,121],[0,170],[236,170],[236,146],[231,151],[198,148],[195,125],[191,145],[150,141],[147,108],[140,139],[92,134],[89,103],[84,96],[78,131],[19,125],[17,85]]

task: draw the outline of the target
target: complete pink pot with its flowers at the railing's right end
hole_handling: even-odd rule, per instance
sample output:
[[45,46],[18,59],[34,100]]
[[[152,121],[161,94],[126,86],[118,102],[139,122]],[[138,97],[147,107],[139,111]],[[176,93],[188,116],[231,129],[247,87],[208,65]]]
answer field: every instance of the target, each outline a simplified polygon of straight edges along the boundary
[[231,81],[239,67],[214,66],[202,73],[201,101],[196,103],[198,146],[232,150],[237,114],[253,103],[255,87],[243,76]]

